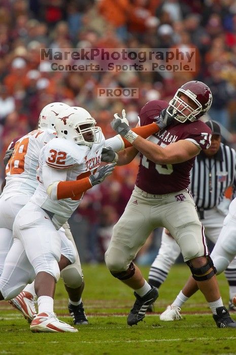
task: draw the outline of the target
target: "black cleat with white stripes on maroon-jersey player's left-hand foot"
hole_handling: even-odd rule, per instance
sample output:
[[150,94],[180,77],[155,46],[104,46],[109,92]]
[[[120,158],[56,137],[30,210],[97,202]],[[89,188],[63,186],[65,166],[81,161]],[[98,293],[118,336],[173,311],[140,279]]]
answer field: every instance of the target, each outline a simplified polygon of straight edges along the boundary
[[133,326],[134,324],[143,321],[148,307],[157,299],[157,289],[153,286],[151,286],[151,288],[152,289],[143,297],[140,297],[136,292],[133,293],[136,297],[136,301],[134,302],[133,308],[130,310],[127,317],[127,324],[129,326]]

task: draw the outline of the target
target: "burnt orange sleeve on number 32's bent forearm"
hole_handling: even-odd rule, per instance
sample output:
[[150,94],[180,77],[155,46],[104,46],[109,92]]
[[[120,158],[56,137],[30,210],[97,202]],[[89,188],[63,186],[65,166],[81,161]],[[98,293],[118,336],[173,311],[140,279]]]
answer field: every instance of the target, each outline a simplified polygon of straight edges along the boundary
[[60,181],[57,185],[57,199],[75,198],[92,187],[88,177],[76,181]]

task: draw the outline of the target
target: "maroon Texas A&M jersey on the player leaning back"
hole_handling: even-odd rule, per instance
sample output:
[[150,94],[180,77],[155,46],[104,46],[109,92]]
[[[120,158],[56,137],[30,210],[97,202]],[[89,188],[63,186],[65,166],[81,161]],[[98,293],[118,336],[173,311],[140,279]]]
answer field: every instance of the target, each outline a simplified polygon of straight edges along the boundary
[[[141,126],[150,124],[154,117],[159,116],[161,110],[167,107],[167,102],[153,100],[146,103],[140,113]],[[192,141],[200,149],[207,149],[211,144],[211,129],[203,121],[179,123],[151,135],[148,140],[161,147],[166,147],[180,139]],[[160,165],[149,161],[141,154],[139,172],[136,185],[151,194],[168,194],[188,188],[189,174],[195,157],[178,164]]]

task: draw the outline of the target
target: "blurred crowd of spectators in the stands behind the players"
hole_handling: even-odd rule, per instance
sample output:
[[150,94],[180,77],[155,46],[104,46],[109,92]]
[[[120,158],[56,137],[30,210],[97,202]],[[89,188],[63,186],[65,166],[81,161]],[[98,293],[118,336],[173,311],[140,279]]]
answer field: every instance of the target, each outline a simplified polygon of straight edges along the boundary
[[[196,69],[183,72],[45,72],[40,48],[195,48]],[[125,108],[136,126],[143,105],[169,101],[187,81],[207,83],[209,117],[236,145],[236,2],[234,0],[1,0],[1,161],[17,136],[37,128],[42,108],[54,101],[85,108],[106,138],[113,114]],[[137,99],[97,98],[97,87],[139,88]],[[230,132],[230,133],[229,133]],[[139,161],[89,190],[72,218],[82,261],[102,262],[114,223],[129,199]],[[4,179],[1,165],[1,180]],[[158,250],[159,231],[150,238]],[[157,238],[156,238],[157,236]],[[159,240],[159,239],[158,239]],[[148,247],[148,246],[147,246]],[[83,255],[82,255],[83,254]],[[155,254],[155,253],[154,253]]]

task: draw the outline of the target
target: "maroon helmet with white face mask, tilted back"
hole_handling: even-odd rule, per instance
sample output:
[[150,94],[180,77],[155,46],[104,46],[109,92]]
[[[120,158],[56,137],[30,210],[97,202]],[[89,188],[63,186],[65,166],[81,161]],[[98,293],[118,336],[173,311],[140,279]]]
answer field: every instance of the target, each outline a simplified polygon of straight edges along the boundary
[[[194,103],[193,107],[180,98],[181,94],[188,96]],[[210,88],[201,81],[189,81],[177,90],[173,99],[169,102],[167,113],[183,123],[187,120],[193,122],[205,115],[212,104]]]

